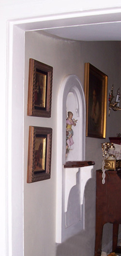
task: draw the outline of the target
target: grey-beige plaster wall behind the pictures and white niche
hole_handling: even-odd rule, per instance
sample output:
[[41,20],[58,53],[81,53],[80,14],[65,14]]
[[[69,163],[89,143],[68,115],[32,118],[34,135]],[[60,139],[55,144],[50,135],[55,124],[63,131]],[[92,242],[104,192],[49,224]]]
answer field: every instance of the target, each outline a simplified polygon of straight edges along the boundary
[[[90,62],[108,76],[108,87],[120,86],[120,42],[74,42],[26,32],[25,40],[25,136],[24,136],[24,243],[25,256],[88,256],[94,255],[95,239],[95,171],[101,168],[101,143],[120,131],[121,113],[107,117],[106,139],[86,138],[86,159],[94,160],[93,177],[85,189],[85,230],[55,244],[56,209],[56,142],[57,97],[61,80],[75,74],[84,85],[84,63]],[[29,58],[53,66],[52,117],[27,117]],[[27,184],[27,151],[29,125],[52,127],[51,179]]]

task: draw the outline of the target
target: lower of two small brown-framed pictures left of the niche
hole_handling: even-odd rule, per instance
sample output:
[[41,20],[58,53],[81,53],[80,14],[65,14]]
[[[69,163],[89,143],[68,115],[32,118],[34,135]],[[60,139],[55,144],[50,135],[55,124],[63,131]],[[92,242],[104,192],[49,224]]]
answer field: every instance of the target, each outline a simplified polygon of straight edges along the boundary
[[29,127],[27,183],[51,175],[52,128]]

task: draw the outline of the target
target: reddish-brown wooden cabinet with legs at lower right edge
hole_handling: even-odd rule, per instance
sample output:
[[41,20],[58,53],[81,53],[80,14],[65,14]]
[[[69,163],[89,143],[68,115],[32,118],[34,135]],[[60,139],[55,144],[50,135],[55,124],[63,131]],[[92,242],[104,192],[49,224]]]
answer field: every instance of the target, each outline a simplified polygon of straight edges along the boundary
[[121,247],[117,247],[121,224],[121,170],[106,171],[105,184],[102,184],[102,170],[96,171],[95,256],[101,255],[103,226],[106,223],[113,223],[112,251],[121,253]]

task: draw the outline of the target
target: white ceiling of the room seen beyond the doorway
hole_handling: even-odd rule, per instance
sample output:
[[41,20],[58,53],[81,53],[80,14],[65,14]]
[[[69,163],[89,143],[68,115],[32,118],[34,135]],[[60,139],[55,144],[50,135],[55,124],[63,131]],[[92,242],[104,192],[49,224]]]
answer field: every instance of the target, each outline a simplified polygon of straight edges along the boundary
[[121,22],[76,25],[45,29],[45,32],[64,39],[79,41],[121,40]]

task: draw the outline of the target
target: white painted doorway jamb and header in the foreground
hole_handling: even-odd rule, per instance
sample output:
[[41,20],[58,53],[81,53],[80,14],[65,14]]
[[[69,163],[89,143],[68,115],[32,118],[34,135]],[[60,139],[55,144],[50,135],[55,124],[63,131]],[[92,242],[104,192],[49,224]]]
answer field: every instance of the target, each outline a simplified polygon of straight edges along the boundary
[[[114,10],[115,12],[115,10]],[[105,10],[100,12],[106,16]],[[8,56],[7,56],[7,255],[24,256],[24,191],[23,191],[23,157],[24,157],[24,51],[25,32],[44,30],[45,27],[57,27],[60,20],[64,26],[82,22],[83,16],[94,15],[99,18],[99,11],[65,13],[43,17],[29,17],[8,21]],[[97,16],[96,16],[97,15]],[[97,18],[97,19],[98,19]],[[113,17],[112,17],[113,18]],[[86,19],[85,19],[86,20]],[[103,22],[103,17],[102,17]],[[17,111],[16,111],[17,105]],[[17,144],[16,144],[16,138]],[[17,148],[19,154],[17,154]],[[17,163],[17,172],[16,172]],[[17,175],[16,175],[17,174]],[[19,237],[19,239],[17,239]],[[17,244],[15,240],[17,239]],[[12,243],[11,243],[12,241]]]

